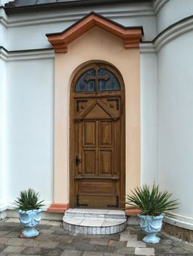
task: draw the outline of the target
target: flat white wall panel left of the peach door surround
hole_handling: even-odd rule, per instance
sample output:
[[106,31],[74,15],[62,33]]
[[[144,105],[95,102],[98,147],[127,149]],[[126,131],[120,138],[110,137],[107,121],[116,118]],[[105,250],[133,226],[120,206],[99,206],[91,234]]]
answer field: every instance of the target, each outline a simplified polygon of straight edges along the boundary
[[7,201],[32,187],[53,200],[53,59],[7,63]]

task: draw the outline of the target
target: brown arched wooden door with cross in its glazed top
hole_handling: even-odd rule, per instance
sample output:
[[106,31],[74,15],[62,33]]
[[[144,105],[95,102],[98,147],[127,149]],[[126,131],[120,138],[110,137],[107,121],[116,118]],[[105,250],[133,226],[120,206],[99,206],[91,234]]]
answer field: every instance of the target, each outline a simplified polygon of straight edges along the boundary
[[122,208],[125,87],[117,69],[89,64],[71,86],[70,206]]

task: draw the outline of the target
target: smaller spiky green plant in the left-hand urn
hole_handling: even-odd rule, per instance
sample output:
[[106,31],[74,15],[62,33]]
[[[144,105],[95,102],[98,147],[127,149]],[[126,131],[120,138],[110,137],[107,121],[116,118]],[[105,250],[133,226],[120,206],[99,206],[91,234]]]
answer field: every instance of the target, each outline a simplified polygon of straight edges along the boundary
[[17,197],[14,204],[17,206],[17,210],[29,211],[37,210],[44,206],[42,204],[43,201],[39,201],[39,192],[34,189],[28,189],[20,192],[20,196]]

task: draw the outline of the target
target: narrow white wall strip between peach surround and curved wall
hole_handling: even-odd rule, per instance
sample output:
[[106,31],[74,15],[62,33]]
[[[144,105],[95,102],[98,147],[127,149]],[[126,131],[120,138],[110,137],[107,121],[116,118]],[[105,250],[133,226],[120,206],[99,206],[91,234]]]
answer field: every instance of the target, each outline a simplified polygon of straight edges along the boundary
[[141,185],[157,181],[157,54],[141,53]]

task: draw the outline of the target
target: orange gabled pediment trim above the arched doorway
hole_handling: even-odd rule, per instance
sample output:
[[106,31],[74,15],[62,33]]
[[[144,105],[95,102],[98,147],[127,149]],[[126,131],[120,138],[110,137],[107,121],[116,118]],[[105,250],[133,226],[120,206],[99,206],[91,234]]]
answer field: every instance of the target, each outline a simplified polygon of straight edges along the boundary
[[103,18],[95,12],[90,12],[68,29],[54,34],[47,34],[48,41],[53,45],[55,53],[67,53],[68,44],[82,36],[94,26],[123,39],[125,48],[138,48],[143,35],[142,27],[125,27],[112,20]]

